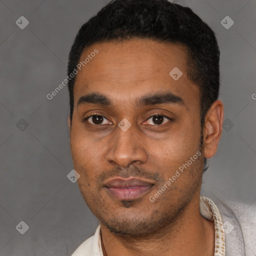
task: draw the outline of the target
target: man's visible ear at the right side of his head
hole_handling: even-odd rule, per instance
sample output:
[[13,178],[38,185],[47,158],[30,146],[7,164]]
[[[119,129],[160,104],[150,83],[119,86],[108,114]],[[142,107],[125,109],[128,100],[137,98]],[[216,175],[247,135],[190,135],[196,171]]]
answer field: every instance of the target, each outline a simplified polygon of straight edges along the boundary
[[203,145],[205,158],[211,158],[217,151],[222,133],[223,116],[223,103],[218,99],[213,102],[204,118]]

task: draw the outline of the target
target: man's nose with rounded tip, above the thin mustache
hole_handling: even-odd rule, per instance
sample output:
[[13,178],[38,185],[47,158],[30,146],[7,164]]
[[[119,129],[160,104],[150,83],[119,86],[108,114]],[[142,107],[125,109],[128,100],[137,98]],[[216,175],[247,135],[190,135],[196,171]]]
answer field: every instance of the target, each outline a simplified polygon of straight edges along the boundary
[[116,133],[109,141],[107,160],[111,164],[127,167],[132,162],[144,163],[147,161],[146,146],[134,128],[131,126],[123,131],[116,126]]

